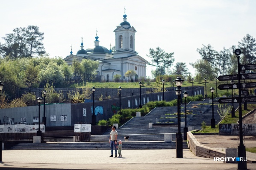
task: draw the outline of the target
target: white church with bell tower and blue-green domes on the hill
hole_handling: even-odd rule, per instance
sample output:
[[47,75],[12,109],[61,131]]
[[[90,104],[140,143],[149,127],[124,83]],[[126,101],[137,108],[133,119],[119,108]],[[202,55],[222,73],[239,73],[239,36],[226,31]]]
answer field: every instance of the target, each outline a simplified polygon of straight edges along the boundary
[[[63,60],[72,65],[72,61],[77,59],[81,62],[83,59],[99,61],[97,69],[97,81],[114,81],[115,75],[121,75],[121,82],[126,81],[124,74],[128,70],[134,70],[136,75],[133,80],[138,81],[138,78],[146,78],[146,64],[148,63],[144,58],[138,55],[135,51],[135,28],[127,22],[127,15],[124,12],[124,21],[121,22],[115,32],[115,51],[100,46],[100,41],[96,34],[94,46],[84,49],[81,43],[81,49],[76,55],[72,53],[72,46],[70,55]],[[128,78],[127,78],[128,81]]]

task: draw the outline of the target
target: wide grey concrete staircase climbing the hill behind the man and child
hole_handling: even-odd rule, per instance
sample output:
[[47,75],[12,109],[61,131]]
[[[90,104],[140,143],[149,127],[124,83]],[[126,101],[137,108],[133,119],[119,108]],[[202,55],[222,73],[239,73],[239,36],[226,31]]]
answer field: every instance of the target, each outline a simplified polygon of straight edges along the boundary
[[[196,107],[195,107],[196,106]],[[218,105],[214,105],[214,117],[216,125],[221,120],[217,113]],[[184,104],[181,106],[184,112]],[[209,99],[205,101],[193,101],[187,104],[187,112],[192,112],[193,117],[187,122],[187,126],[201,129],[201,123],[211,124],[212,104]],[[176,148],[176,127],[154,127],[149,128],[149,123],[157,123],[156,118],[165,118],[165,114],[177,113],[177,107],[156,107],[144,117],[134,117],[126,124],[117,129],[118,140],[123,141],[123,149],[175,149]],[[183,116],[183,115],[182,115]],[[183,128],[181,128],[183,138]],[[15,150],[109,150],[109,131],[103,135],[91,135],[90,142],[47,142],[41,144],[20,143],[12,147]],[[172,134],[172,142],[164,142],[165,133]],[[128,142],[124,142],[124,136],[128,135]],[[186,141],[183,141],[183,148],[188,148]]]

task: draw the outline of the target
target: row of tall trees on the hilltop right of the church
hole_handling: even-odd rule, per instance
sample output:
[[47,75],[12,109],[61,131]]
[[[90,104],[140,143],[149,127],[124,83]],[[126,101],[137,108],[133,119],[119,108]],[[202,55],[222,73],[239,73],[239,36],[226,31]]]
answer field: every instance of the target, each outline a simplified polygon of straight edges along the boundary
[[[196,70],[194,80],[201,82],[205,77],[209,80],[214,80],[219,75],[237,74],[237,58],[233,55],[235,49],[241,49],[241,64],[256,63],[256,43],[255,39],[247,34],[238,41],[238,45],[230,48],[223,47],[220,52],[217,52],[210,44],[197,48],[196,51],[200,55],[200,59],[194,63],[189,63]],[[177,62],[172,69],[175,61],[174,52],[166,53],[160,47],[149,50],[148,57],[152,58],[149,63],[156,66],[156,70],[151,73],[154,78],[161,75],[181,75],[182,78],[191,80],[191,72],[188,72],[187,64]]]

